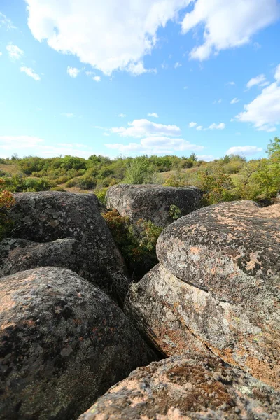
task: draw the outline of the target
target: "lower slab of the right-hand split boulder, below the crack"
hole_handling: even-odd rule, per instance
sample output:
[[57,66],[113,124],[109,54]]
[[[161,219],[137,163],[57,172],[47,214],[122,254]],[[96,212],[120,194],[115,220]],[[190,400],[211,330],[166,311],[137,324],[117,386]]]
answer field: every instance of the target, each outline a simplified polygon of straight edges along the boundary
[[272,386],[280,384],[280,311],[272,293],[252,305],[230,304],[158,265],[125,300],[137,328],[167,356],[213,352]]

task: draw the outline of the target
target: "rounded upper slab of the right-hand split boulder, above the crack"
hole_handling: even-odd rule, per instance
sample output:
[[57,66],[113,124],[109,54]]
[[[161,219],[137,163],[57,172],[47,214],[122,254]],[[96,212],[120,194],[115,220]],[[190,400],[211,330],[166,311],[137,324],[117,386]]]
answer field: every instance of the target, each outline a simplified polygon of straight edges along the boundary
[[280,204],[250,201],[205,207],[166,228],[158,259],[174,276],[230,303],[250,303],[280,272]]

